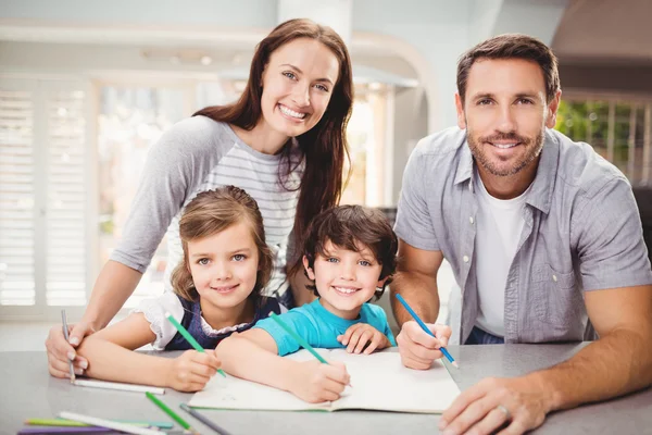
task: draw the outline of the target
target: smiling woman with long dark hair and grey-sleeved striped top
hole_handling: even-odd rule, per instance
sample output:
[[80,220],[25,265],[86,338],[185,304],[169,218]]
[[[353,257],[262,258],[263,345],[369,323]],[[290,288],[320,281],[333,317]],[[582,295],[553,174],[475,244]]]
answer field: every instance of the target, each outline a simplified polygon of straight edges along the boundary
[[50,331],[50,373],[67,376],[68,359],[79,372],[88,366],[74,348],[104,327],[134,293],[166,231],[164,284],[172,289],[172,268],[183,256],[179,212],[200,191],[231,184],[246,189],[260,206],[275,256],[263,293],[293,307],[291,281],[297,304],[312,300],[297,285],[302,274],[287,276],[300,260],[291,234],[303,234],[339,200],[352,99],[351,61],[333,29],[291,20],[272,30],[253,54],[237,102],[177,123],[148,152],[122,243],[98,276],[80,322],[71,325],[71,343],[61,326]]

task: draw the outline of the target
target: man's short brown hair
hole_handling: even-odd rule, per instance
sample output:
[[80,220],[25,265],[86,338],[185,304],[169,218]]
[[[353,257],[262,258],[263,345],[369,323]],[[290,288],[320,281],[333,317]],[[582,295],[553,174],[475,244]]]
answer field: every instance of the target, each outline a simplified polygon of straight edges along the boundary
[[482,59],[524,59],[539,64],[546,82],[546,100],[552,101],[560,90],[557,59],[546,44],[523,34],[499,35],[482,41],[462,54],[457,61],[457,94],[462,102],[466,92],[466,80],[473,64]]

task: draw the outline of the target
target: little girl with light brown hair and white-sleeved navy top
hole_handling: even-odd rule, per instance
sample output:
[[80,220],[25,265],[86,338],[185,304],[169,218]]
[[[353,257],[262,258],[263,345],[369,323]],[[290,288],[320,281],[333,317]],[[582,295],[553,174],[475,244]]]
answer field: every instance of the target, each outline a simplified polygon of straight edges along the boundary
[[167,359],[130,350],[150,343],[158,350],[191,349],[166,312],[203,348],[213,349],[234,332],[280,311],[276,299],[261,295],[273,256],[261,212],[244,190],[226,186],[199,194],[184,211],[179,234],[184,260],[172,275],[174,293],[142,301],[127,319],[85,339],[79,355],[90,362],[89,376],[202,389],[220,368],[213,352],[188,350]]

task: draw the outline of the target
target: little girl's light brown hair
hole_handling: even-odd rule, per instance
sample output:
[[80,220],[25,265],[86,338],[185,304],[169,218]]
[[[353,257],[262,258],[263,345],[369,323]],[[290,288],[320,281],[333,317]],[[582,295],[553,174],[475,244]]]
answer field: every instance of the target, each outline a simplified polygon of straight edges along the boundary
[[225,186],[199,194],[186,207],[179,222],[179,237],[184,248],[184,260],[172,273],[174,291],[186,300],[199,300],[188,263],[188,241],[215,235],[231,225],[246,222],[259,251],[259,270],[251,298],[262,301],[261,290],[272,275],[274,256],[265,243],[265,227],[258,203],[244,190]]

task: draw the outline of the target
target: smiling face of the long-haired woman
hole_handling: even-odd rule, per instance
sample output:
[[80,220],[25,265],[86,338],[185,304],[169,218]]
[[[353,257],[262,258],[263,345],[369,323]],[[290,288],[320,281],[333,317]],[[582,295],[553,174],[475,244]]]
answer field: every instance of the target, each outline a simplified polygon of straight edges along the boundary
[[339,62],[322,42],[299,38],[277,48],[263,72],[264,126],[286,137],[314,127],[330,101]]

